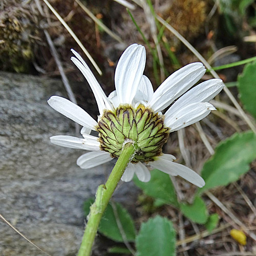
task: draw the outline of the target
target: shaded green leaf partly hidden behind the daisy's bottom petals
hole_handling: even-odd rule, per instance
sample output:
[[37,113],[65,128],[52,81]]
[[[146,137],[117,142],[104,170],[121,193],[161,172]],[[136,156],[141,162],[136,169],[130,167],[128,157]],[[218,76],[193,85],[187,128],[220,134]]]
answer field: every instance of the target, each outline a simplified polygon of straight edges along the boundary
[[134,182],[147,196],[161,199],[166,204],[179,207],[176,191],[168,174],[154,169],[151,172],[151,180],[149,182],[141,182],[137,177],[134,178]]

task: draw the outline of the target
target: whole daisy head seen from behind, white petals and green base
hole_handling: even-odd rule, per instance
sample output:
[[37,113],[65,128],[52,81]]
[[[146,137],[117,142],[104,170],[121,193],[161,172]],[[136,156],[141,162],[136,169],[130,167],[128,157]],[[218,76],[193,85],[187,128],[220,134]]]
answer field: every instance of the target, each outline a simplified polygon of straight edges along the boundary
[[[77,159],[77,164],[84,169],[118,158],[125,143],[132,142],[136,151],[122,181],[131,181],[136,174],[140,181],[148,182],[151,178],[149,167],[181,176],[196,186],[204,186],[204,180],[196,172],[174,162],[176,158],[173,155],[163,154],[162,146],[169,133],[200,121],[215,110],[207,101],[223,89],[222,80],[210,79],[190,89],[206,71],[202,63],[195,62],[174,72],[154,92],[151,81],[143,75],[145,48],[133,44],[123,52],[117,63],[116,90],[107,97],[86,62],[76,51],[71,51],[75,55],[71,60],[94,93],[99,116],[95,121],[68,99],[52,96],[48,100],[49,105],[82,125],[83,138],[60,135],[51,137],[51,142],[91,151]],[[169,105],[163,115],[161,111]],[[98,137],[90,135],[91,130],[97,131]]]

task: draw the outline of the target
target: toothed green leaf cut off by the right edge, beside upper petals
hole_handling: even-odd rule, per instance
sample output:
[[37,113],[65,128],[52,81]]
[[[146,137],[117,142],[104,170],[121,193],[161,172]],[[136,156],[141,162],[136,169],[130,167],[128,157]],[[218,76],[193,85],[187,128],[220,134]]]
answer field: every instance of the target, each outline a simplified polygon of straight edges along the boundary
[[244,108],[256,118],[256,62],[245,66],[238,76],[238,90]]

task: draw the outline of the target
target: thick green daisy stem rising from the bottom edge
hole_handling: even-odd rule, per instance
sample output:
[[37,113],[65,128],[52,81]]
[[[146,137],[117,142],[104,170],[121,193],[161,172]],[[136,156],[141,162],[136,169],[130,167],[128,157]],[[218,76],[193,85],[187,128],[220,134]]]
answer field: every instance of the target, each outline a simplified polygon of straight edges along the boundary
[[86,230],[84,230],[82,243],[77,256],[90,255],[101,217],[123,175],[124,169],[131,161],[134,152],[135,147],[133,143],[126,143],[110,174],[109,179],[106,181],[106,184],[98,187],[95,202],[90,207],[89,220]]

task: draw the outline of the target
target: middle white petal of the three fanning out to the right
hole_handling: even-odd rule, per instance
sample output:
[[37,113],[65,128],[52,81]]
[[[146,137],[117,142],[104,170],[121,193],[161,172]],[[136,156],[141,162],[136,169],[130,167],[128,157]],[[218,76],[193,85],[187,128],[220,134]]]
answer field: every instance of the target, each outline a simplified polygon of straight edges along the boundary
[[165,112],[165,118],[178,111],[184,106],[196,103],[207,102],[213,99],[224,87],[221,79],[210,79],[198,84],[184,95],[182,95],[170,108]]

